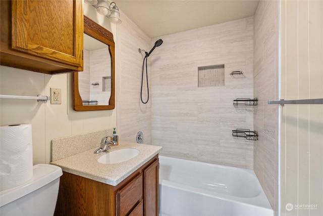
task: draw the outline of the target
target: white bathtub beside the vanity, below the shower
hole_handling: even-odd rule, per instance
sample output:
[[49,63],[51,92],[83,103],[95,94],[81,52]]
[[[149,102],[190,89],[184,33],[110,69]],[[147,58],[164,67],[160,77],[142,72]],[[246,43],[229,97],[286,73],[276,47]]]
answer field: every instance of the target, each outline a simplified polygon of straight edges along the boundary
[[159,156],[159,216],[274,215],[249,169]]

